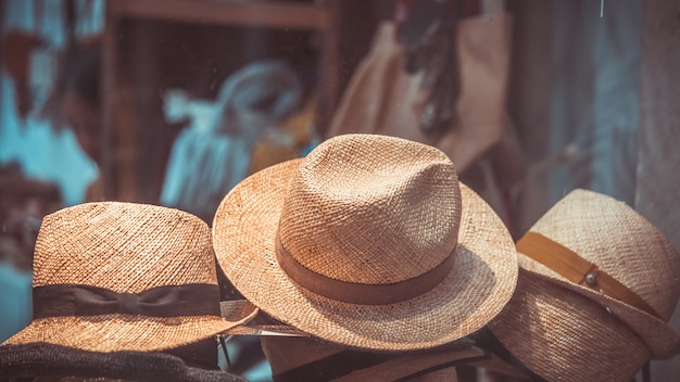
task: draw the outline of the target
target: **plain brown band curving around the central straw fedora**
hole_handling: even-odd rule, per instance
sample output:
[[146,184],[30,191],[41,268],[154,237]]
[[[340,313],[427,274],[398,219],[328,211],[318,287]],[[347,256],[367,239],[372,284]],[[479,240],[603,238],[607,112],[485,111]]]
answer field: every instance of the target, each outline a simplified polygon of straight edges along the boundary
[[449,255],[435,268],[414,278],[389,284],[364,284],[327,278],[302,264],[276,235],[276,257],[280,267],[297,283],[311,292],[350,304],[385,305],[416,297],[437,286],[451,272],[455,257]]

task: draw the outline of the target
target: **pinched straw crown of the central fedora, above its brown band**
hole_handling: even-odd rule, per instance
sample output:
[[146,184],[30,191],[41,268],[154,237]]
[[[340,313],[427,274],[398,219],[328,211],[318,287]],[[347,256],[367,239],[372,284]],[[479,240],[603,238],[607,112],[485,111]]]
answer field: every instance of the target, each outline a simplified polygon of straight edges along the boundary
[[279,240],[330,279],[388,284],[440,265],[457,243],[461,191],[441,151],[347,135],[310,153],[289,184]]

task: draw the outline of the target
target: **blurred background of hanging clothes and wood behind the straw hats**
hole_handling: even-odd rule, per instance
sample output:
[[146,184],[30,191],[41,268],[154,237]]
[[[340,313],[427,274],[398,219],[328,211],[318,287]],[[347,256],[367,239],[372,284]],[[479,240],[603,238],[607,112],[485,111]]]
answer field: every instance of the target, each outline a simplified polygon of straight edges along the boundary
[[673,1],[1,0],[0,36],[0,341],[30,320],[46,214],[212,225],[238,181],[344,132],[437,145],[516,239],[584,188],[680,247]]

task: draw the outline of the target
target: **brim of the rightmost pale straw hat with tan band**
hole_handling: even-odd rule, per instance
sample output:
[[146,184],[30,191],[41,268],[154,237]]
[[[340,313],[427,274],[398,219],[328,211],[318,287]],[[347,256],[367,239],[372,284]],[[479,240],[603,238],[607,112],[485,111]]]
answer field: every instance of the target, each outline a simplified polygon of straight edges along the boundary
[[626,322],[640,335],[652,352],[652,358],[665,359],[678,353],[680,333],[667,322],[595,290],[576,284],[521,253],[519,256],[521,257],[520,265],[524,268],[529,268],[528,271],[537,275],[537,277],[555,282],[608,308],[614,316]]

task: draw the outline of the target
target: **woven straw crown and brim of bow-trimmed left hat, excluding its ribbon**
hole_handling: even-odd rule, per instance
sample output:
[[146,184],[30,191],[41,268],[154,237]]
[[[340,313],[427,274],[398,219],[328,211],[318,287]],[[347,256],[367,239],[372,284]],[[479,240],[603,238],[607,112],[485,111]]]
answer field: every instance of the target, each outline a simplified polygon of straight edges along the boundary
[[[45,217],[34,288],[86,284],[122,293],[162,285],[217,284],[210,229],[193,215],[146,204],[86,203]],[[215,301],[218,306],[219,302]],[[47,342],[92,352],[159,351],[197,342],[254,316],[110,314],[34,320],[5,344]]]

